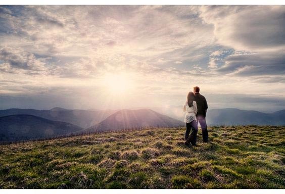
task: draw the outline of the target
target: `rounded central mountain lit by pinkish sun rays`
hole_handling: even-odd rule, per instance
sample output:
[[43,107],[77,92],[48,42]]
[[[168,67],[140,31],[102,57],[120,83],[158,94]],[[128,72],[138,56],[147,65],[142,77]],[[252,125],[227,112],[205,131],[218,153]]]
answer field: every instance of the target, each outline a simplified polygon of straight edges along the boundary
[[120,110],[87,131],[109,131],[145,127],[179,127],[184,122],[157,113],[151,109]]

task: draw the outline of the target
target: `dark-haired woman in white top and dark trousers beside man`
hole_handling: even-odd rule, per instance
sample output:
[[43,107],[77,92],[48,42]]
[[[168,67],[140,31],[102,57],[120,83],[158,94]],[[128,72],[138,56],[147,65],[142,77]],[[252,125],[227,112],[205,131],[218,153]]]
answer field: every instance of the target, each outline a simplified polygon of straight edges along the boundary
[[[186,123],[185,145],[196,146],[198,123],[196,119],[197,104],[194,101],[194,93],[191,91],[187,95],[187,101],[183,111],[186,111],[184,122]],[[190,144],[191,143],[191,144]]]

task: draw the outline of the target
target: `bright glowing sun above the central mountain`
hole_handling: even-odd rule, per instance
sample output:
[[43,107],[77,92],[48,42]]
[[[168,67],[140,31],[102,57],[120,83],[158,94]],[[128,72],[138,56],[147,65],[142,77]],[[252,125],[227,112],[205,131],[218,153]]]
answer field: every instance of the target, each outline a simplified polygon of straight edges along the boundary
[[108,73],[103,76],[102,84],[111,94],[126,94],[133,89],[134,82],[128,73]]

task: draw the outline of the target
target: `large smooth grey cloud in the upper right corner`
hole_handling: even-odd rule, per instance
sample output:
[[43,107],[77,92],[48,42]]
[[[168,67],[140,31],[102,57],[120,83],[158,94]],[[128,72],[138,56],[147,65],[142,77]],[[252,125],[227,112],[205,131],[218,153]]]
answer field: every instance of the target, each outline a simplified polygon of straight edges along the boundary
[[222,45],[247,51],[284,48],[284,6],[203,6],[200,11]]

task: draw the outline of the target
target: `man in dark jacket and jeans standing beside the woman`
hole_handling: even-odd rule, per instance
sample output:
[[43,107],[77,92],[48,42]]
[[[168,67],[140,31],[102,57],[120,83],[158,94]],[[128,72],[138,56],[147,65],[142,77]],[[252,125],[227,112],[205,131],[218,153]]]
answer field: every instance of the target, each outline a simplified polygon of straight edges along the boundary
[[203,136],[203,142],[208,142],[208,130],[207,130],[207,124],[206,124],[206,113],[208,109],[208,104],[206,101],[206,98],[201,95],[200,88],[198,86],[194,87],[194,98],[197,103],[197,122],[200,123],[202,128],[202,136]]

